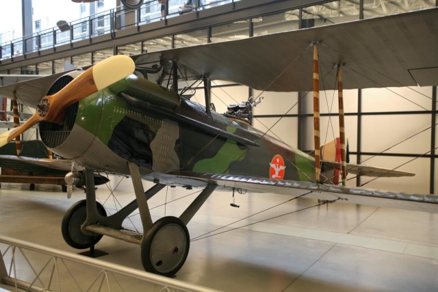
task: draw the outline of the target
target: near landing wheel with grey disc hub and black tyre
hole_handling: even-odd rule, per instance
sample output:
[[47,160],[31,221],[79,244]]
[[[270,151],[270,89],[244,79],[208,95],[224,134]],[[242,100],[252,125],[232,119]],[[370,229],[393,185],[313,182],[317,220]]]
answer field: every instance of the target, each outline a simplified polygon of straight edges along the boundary
[[189,253],[190,235],[177,217],[162,217],[148,230],[141,243],[142,264],[146,271],[173,276]]

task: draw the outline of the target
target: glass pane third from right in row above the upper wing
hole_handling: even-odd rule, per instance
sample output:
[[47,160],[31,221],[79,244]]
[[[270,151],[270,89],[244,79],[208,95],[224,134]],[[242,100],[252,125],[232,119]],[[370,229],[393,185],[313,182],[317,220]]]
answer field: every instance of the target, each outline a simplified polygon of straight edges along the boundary
[[253,34],[254,36],[261,36],[263,34],[274,34],[276,32],[298,29],[299,21],[299,10],[260,16],[253,18]]

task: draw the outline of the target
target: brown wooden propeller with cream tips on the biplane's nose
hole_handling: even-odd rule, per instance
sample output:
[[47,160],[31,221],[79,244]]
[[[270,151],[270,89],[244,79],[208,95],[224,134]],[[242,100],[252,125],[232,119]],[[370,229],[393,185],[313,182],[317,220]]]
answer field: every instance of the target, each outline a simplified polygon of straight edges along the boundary
[[1,134],[0,147],[8,144],[38,122],[43,120],[60,122],[64,118],[66,107],[127,77],[134,72],[135,67],[130,57],[115,55],[88,68],[59,92],[44,96],[38,103],[34,116],[31,116],[24,124]]

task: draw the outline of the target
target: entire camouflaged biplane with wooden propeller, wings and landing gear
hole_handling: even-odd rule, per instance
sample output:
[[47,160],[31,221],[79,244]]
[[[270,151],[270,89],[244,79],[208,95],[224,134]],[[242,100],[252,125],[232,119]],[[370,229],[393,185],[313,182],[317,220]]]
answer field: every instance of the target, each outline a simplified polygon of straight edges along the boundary
[[[314,157],[251,127],[252,103],[216,113],[209,107],[208,86],[209,79],[220,79],[258,90],[314,88],[318,97],[315,71],[336,78],[341,64],[344,88],[437,85],[436,36],[437,8],[133,57],[116,55],[54,82],[42,77],[0,88],[0,94],[15,94],[36,108],[25,124],[0,135],[0,146],[38,124],[47,148],[86,168],[86,200],[74,204],[62,220],[66,243],[84,249],[107,235],[139,244],[144,269],[164,276],[177,273],[185,262],[190,248],[186,225],[214,190],[245,189],[436,213],[437,196],[330,183],[343,168],[340,164],[359,175],[412,174],[347,164],[345,151],[341,163],[324,161],[324,155],[318,163],[320,147],[315,147]],[[190,90],[178,92],[181,75],[203,80],[207,107],[190,101]],[[166,78],[172,90],[159,85]],[[94,170],[131,176],[136,199],[106,216],[96,202]],[[75,172],[66,176],[69,185],[78,180]],[[144,191],[142,180],[155,185]],[[147,200],[166,185],[203,191],[181,216],[153,222]],[[136,209],[143,235],[122,228]]]

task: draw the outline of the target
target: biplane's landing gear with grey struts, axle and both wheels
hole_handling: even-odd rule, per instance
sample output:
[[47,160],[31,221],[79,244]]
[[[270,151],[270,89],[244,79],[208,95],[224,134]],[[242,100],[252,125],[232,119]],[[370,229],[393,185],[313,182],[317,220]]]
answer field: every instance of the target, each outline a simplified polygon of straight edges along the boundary
[[[86,169],[86,200],[74,204],[64,215],[62,220],[64,240],[73,248],[88,248],[90,238],[94,238],[95,243],[103,235],[136,243],[140,245],[142,264],[146,271],[162,276],[173,276],[181,269],[189,253],[190,235],[187,224],[216,189],[216,185],[207,185],[179,218],[167,216],[153,223],[147,200],[165,185],[157,183],[151,189],[144,191],[138,165],[132,162],[128,164],[136,200],[117,213],[106,217],[106,213],[103,213],[105,210],[96,202],[94,174],[92,170]],[[123,220],[136,209],[140,213],[143,235],[123,232]]]

